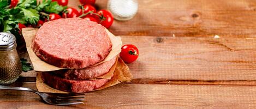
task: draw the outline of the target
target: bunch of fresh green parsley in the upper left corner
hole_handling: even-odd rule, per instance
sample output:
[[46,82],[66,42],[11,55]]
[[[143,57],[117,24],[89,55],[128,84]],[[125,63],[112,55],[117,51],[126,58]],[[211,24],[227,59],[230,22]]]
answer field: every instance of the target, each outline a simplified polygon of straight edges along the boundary
[[20,37],[21,34],[18,23],[37,25],[40,18],[47,17],[40,16],[40,12],[46,13],[46,15],[60,14],[67,9],[51,0],[43,0],[39,3],[37,0],[19,0],[16,7],[11,9],[9,7],[10,0],[0,0],[0,32],[13,33],[16,37]]

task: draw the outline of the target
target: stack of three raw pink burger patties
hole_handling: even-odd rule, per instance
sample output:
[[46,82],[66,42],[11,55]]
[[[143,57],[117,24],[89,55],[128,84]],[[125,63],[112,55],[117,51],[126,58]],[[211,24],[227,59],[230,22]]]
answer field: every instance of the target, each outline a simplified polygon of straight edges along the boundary
[[41,73],[43,81],[52,88],[74,93],[97,89],[109,81],[90,78],[108,73],[115,64],[116,57],[91,66],[104,60],[111,47],[111,40],[103,26],[80,18],[44,23],[32,44],[34,53],[40,59],[59,68],[68,68]]

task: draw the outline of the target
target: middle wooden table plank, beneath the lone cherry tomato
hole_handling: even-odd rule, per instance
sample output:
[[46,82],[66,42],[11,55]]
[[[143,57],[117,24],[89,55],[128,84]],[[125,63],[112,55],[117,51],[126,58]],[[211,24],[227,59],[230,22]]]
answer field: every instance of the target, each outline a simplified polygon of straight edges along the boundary
[[122,36],[122,40],[140,50],[138,60],[128,64],[135,79],[241,82],[256,78],[255,38]]

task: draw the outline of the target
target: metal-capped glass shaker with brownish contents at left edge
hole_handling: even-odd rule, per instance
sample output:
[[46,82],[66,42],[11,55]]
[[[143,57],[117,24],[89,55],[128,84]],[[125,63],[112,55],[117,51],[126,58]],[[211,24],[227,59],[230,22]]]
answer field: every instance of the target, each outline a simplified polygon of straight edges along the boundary
[[11,33],[0,32],[0,84],[15,82],[21,72],[15,36]]

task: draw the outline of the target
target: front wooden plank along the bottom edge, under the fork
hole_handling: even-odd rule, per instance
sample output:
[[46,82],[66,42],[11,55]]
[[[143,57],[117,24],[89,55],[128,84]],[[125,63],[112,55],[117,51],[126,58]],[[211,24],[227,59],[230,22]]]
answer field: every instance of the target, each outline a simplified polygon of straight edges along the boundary
[[[35,89],[35,83],[13,84]],[[129,90],[129,91],[128,91]],[[84,105],[52,106],[32,93],[0,90],[1,108],[253,108],[256,86],[118,84],[86,93]]]

